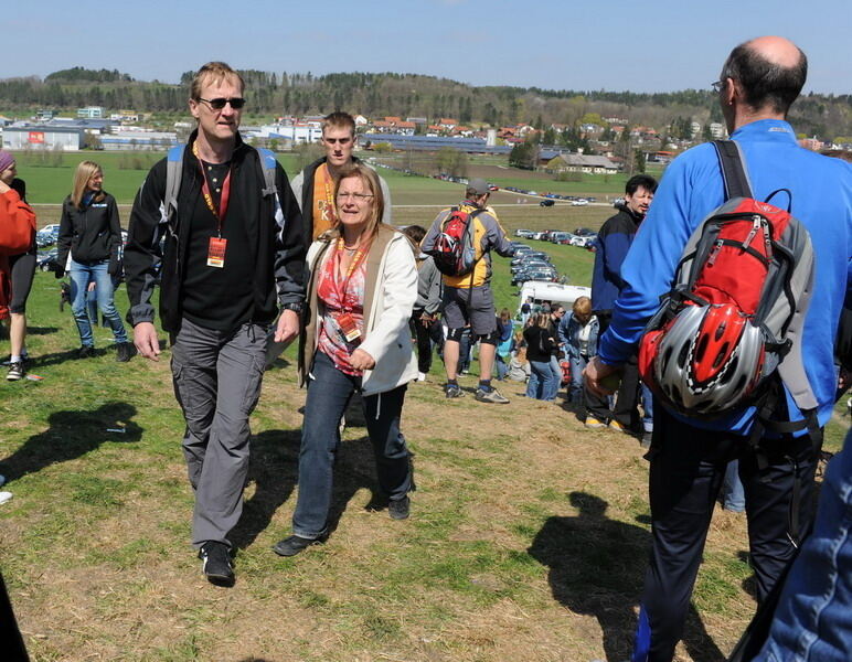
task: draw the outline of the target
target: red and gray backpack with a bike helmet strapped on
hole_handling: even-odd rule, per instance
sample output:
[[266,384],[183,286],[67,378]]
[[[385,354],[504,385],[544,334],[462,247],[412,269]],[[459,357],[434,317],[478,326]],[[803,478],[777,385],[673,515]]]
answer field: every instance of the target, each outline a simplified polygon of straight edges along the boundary
[[640,375],[669,408],[696,418],[748,405],[768,418],[781,389],[766,394],[782,382],[812,427],[817,399],[801,357],[814,279],[810,235],[789,206],[769,204],[781,191],[790,196],[787,189],[754,200],[737,143],[713,145],[726,202],[686,243],[640,342]]

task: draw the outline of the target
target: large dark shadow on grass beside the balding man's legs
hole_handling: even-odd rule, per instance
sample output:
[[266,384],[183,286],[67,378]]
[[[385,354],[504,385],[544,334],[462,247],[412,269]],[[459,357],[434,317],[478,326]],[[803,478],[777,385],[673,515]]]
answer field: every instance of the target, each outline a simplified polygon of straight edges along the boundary
[[[594,494],[572,492],[571,503],[579,515],[550,517],[529,553],[550,568],[551,590],[560,604],[598,620],[606,659],[628,659],[651,535],[641,526],[607,519],[607,502]],[[692,605],[684,643],[695,662],[725,660]]]

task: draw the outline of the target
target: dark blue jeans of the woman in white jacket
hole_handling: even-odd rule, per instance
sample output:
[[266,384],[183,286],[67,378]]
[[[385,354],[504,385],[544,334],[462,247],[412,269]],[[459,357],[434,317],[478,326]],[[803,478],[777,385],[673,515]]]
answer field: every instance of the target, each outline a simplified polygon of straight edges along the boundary
[[[348,375],[322,352],[313,356],[305,403],[299,450],[299,498],[292,514],[292,532],[311,540],[328,531],[331,508],[334,457],[340,446],[340,419],[361,377]],[[398,501],[412,490],[408,448],[400,431],[405,401],[403,384],[393,391],[362,398],[364,419],[373,444],[379,487],[391,501]]]

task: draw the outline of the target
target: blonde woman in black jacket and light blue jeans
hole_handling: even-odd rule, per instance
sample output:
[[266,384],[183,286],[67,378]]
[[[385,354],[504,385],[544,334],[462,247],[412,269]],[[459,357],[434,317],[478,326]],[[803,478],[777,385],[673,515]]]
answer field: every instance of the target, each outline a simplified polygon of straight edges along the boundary
[[127,341],[113,296],[111,277],[118,274],[120,246],[118,205],[104,191],[104,172],[94,161],[83,161],[74,175],[74,190],[62,204],[57,256],[58,264],[71,271],[71,310],[79,330],[81,359],[92,356],[95,350],[86,312],[90,282],[95,284],[100,313],[115,334],[116,360],[124,362],[132,356],[132,345]]

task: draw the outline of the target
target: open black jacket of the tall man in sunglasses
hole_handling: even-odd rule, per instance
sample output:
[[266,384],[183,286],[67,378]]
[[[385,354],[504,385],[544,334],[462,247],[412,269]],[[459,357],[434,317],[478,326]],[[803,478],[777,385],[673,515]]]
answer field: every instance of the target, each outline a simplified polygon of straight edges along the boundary
[[[153,321],[151,296],[157,267],[162,260],[160,317],[169,332],[180,329],[182,318],[183,264],[187,259],[190,222],[201,195],[199,161],[192,153],[198,131],[190,136],[183,152],[183,173],[178,194],[178,212],[171,222],[164,214],[167,160],[159,161],[148,173],[136,194],[130,213],[130,228],[125,247],[125,277],[130,310],[127,321]],[[302,220],[299,205],[287,182],[284,169],[276,167],[277,195],[263,195],[263,169],[257,151],[237,135],[232,157],[231,205],[228,218],[245,224],[249,244],[254,246],[254,311],[252,321],[271,322],[279,303],[298,303],[305,299],[305,254]],[[185,222],[183,221],[185,220]],[[160,254],[160,242],[166,237]]]

